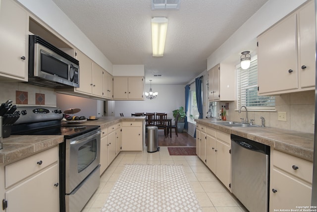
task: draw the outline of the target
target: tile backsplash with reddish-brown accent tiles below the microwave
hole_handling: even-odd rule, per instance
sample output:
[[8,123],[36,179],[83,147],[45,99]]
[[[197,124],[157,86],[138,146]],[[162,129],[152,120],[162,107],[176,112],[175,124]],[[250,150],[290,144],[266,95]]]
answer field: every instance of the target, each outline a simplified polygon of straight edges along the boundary
[[0,82],[0,103],[11,99],[16,106],[45,105],[56,107],[56,93],[53,88],[31,85],[23,82]]

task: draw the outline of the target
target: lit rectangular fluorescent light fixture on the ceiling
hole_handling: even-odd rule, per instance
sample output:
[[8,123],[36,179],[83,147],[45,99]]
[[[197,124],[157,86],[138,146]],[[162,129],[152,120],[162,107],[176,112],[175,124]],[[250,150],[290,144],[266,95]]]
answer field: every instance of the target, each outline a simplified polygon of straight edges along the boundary
[[165,17],[154,17],[151,20],[153,57],[163,57],[167,22]]

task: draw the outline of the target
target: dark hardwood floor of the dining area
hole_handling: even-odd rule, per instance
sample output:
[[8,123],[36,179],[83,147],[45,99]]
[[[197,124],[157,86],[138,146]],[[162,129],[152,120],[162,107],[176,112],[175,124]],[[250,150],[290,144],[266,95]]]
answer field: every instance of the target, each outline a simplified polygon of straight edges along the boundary
[[178,133],[178,137],[174,130],[172,131],[172,138],[165,138],[164,131],[158,131],[158,144],[159,146],[196,146],[196,139],[186,132]]

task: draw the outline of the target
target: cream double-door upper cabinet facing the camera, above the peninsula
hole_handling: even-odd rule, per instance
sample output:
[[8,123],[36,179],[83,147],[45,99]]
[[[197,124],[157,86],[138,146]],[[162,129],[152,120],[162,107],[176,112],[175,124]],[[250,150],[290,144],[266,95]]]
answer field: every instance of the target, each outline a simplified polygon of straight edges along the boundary
[[143,76],[113,76],[113,99],[143,100]]

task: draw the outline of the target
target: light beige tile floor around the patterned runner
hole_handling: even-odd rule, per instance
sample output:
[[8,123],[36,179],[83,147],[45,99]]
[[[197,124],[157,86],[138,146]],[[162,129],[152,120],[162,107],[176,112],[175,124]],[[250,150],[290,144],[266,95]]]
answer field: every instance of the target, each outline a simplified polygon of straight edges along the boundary
[[100,186],[82,212],[100,212],[117,181],[124,164],[183,164],[203,212],[248,212],[242,204],[222,185],[198,156],[170,156],[167,146],[159,152],[120,152],[100,178]]

